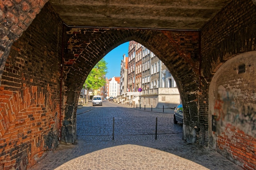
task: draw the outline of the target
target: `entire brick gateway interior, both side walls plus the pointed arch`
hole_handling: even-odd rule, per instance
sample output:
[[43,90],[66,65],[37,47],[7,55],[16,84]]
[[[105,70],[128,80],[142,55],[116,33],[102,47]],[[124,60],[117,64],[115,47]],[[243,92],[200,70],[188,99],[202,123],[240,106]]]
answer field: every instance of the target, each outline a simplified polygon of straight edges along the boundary
[[255,169],[255,0],[231,1],[196,31],[69,27],[49,2],[19,2],[0,4],[0,169],[25,170],[60,141],[74,143],[83,82],[130,40],[175,77],[183,139]]

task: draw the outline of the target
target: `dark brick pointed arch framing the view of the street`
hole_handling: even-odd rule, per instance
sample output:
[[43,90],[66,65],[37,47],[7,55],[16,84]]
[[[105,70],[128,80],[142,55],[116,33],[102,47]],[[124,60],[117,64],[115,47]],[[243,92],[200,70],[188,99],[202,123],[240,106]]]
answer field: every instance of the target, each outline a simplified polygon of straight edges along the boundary
[[[63,107],[65,109],[63,141],[73,143],[76,138],[76,102],[87,75],[109,51],[130,40],[143,44],[155,53],[175,77],[184,104],[184,117],[186,117],[184,139],[189,143],[197,141],[198,31],[66,28],[65,32],[67,34],[63,57],[65,73],[63,103],[66,104]],[[188,42],[191,46],[184,45]]]

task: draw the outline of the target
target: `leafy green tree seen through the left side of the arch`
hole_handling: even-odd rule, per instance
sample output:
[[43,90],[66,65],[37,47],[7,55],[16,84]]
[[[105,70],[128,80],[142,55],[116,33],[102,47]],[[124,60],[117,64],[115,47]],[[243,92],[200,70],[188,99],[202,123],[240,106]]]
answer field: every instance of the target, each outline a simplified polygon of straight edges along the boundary
[[87,85],[88,90],[97,90],[102,86],[105,86],[106,79],[104,75],[108,73],[107,64],[108,63],[104,59],[101,59],[94,68],[92,68],[92,71],[89,73],[85,83],[83,84],[83,88]]

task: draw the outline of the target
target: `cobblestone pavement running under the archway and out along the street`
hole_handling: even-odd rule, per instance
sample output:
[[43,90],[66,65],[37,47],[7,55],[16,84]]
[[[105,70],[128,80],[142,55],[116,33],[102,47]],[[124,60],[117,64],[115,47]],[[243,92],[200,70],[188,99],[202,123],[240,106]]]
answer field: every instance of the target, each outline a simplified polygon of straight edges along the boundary
[[182,124],[173,124],[171,111],[147,112],[104,102],[78,109],[76,144],[61,144],[29,170],[242,169],[209,148],[184,142]]

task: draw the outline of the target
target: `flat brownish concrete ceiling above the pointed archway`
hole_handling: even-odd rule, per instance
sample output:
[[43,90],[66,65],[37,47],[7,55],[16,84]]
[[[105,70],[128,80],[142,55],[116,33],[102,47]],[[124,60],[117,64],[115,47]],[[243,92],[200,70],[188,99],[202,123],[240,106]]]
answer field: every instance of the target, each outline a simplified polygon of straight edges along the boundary
[[49,0],[68,26],[198,30],[232,0]]

